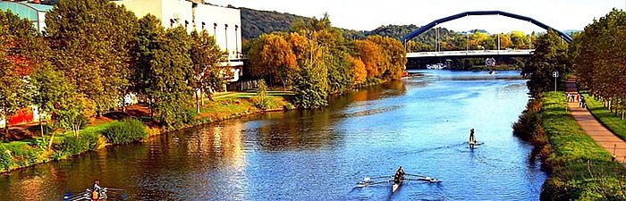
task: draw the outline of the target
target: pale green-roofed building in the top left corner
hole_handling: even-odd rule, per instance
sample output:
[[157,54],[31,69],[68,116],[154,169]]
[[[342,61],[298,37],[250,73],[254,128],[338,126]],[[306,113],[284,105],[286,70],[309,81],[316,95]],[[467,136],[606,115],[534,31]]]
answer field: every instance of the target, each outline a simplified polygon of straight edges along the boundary
[[0,10],[11,11],[21,18],[28,19],[39,32],[46,30],[46,13],[52,8],[52,5],[47,4],[0,2]]

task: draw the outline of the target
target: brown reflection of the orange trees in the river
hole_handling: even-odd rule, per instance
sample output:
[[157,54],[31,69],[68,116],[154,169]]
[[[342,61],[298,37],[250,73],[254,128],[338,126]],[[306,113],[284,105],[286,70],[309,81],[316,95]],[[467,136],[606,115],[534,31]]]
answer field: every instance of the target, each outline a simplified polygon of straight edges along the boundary
[[[271,151],[315,150],[334,147],[343,138],[343,130],[334,129],[347,116],[337,115],[348,105],[358,101],[372,101],[389,96],[402,96],[406,88],[402,80],[382,85],[355,89],[340,96],[331,97],[330,105],[318,110],[297,110],[290,113],[265,114],[258,129],[248,130],[247,135],[257,135],[260,147]],[[380,113],[395,108],[370,111]]]

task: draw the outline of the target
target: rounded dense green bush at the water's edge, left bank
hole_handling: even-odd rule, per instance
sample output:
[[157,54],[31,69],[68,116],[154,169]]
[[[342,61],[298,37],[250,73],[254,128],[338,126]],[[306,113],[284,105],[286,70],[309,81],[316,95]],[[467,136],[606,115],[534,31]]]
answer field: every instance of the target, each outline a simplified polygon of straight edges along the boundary
[[108,143],[125,144],[147,138],[148,131],[141,121],[131,119],[112,123],[102,135]]

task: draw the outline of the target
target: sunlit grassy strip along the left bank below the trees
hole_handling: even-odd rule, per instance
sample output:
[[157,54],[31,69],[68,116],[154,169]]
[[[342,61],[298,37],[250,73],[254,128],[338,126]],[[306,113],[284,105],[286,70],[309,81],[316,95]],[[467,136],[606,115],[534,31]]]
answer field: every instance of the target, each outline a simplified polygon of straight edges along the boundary
[[[255,105],[253,97],[255,95],[255,93],[229,93],[218,96],[215,101],[207,101],[206,105],[202,106],[200,113],[196,114],[195,120],[182,128],[224,121],[252,113],[293,108],[285,99],[285,96],[291,96],[288,92],[269,92],[266,110],[261,110]],[[0,143],[0,172],[9,172],[38,163],[62,160],[107,145],[140,141],[150,135],[167,131],[165,128],[155,126],[154,121],[139,121],[138,119],[148,120],[149,117],[139,116],[120,120],[92,121],[92,124],[79,131],[79,137],[75,137],[72,131],[62,131],[55,135],[54,143],[50,149],[48,149],[47,143],[49,142],[47,140],[50,140],[49,136],[2,142]]]

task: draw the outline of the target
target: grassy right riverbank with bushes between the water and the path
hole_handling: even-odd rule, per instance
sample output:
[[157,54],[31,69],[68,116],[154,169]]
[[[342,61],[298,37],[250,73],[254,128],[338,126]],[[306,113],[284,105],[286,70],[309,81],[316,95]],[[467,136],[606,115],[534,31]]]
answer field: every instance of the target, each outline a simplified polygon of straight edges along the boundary
[[[626,171],[612,155],[590,138],[566,110],[562,92],[549,92],[529,103],[516,124],[527,130],[516,135],[535,145],[536,155],[549,175],[542,200],[596,200],[624,197],[620,172]],[[540,108],[540,109],[538,109]],[[515,128],[516,126],[514,126]]]

